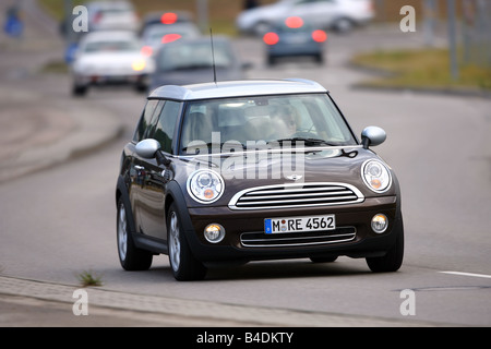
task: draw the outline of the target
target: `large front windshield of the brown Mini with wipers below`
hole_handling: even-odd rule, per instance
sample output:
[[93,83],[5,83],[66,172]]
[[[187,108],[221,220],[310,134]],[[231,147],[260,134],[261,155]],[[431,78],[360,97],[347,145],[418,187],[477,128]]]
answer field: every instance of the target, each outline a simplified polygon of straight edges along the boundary
[[357,144],[326,94],[190,101],[181,132],[183,155],[224,149],[224,144],[227,149]]

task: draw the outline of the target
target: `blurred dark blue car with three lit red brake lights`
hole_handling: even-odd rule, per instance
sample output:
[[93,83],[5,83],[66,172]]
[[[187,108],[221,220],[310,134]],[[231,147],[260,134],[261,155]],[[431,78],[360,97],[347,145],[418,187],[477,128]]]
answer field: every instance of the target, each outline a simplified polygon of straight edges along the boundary
[[264,34],[267,63],[274,64],[278,58],[310,56],[316,62],[324,61],[324,43],[327,34],[314,29],[301,17],[290,16],[273,25],[271,32]]

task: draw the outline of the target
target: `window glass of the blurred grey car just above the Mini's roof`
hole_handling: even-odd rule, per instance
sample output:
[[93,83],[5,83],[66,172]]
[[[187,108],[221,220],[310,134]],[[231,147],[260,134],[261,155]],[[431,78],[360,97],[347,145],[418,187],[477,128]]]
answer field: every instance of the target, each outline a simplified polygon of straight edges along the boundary
[[[228,45],[215,43],[216,68],[228,68],[232,64],[232,55]],[[213,56],[209,40],[203,43],[185,43],[167,45],[158,55],[157,70],[187,70],[212,68]]]

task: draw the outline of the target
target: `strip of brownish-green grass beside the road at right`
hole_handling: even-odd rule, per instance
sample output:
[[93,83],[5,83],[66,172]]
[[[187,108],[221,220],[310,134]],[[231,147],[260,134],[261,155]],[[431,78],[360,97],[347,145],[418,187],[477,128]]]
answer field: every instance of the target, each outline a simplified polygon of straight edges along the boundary
[[455,81],[446,49],[379,50],[358,55],[351,62],[386,73],[383,77],[364,82],[364,86],[491,91],[490,68],[460,64],[459,79]]

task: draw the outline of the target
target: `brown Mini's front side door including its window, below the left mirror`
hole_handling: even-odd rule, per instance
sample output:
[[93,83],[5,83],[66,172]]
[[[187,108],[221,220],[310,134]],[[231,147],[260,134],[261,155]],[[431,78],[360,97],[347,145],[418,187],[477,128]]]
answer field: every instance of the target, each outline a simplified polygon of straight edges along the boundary
[[[165,101],[156,123],[153,125],[148,139],[157,140],[160,143],[160,151],[166,157],[170,157],[173,152],[173,140],[176,131],[176,122],[181,110],[181,104],[173,100]],[[145,176],[143,177],[143,185],[140,190],[140,231],[146,236],[167,240],[165,198],[166,184],[169,178],[167,171],[171,171],[171,167],[157,164],[155,158],[140,158],[139,164],[143,167]]]

